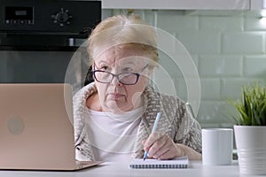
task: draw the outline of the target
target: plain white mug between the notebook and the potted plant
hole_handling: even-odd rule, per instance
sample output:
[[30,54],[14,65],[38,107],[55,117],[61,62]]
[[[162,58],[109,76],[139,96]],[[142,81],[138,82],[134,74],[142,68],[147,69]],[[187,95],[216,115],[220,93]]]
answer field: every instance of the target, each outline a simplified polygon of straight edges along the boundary
[[203,128],[202,164],[231,165],[233,149],[232,128]]

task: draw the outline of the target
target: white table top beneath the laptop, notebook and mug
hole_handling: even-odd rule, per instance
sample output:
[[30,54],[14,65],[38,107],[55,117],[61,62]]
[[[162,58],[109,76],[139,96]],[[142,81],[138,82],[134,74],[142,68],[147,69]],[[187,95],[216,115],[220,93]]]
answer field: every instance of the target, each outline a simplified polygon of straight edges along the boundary
[[[90,167],[75,172],[50,172],[50,171],[0,171],[4,177],[162,177],[162,176],[189,176],[189,177],[251,177],[239,174],[239,165],[235,161],[232,165],[202,165],[201,161],[191,161],[187,169],[131,169],[128,163],[105,162],[101,165]],[[259,175],[254,175],[258,177]]]

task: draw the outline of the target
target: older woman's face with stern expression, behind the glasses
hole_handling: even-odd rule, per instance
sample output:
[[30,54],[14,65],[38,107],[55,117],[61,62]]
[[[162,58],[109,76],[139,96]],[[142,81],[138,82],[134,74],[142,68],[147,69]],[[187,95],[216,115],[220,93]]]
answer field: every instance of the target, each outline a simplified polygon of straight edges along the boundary
[[[100,105],[105,112],[122,113],[143,105],[142,93],[147,85],[148,67],[145,58],[131,50],[112,48],[95,59],[94,70],[108,73],[139,73],[134,85],[122,84],[117,77],[110,83],[96,81]],[[98,78],[105,73],[98,73]]]

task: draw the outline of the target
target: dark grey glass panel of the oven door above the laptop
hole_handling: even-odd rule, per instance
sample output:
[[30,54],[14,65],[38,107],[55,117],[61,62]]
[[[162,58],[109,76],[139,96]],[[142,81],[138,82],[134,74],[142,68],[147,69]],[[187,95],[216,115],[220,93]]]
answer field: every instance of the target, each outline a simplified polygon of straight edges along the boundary
[[89,58],[85,47],[69,51],[0,50],[0,83],[70,83],[80,89]]

